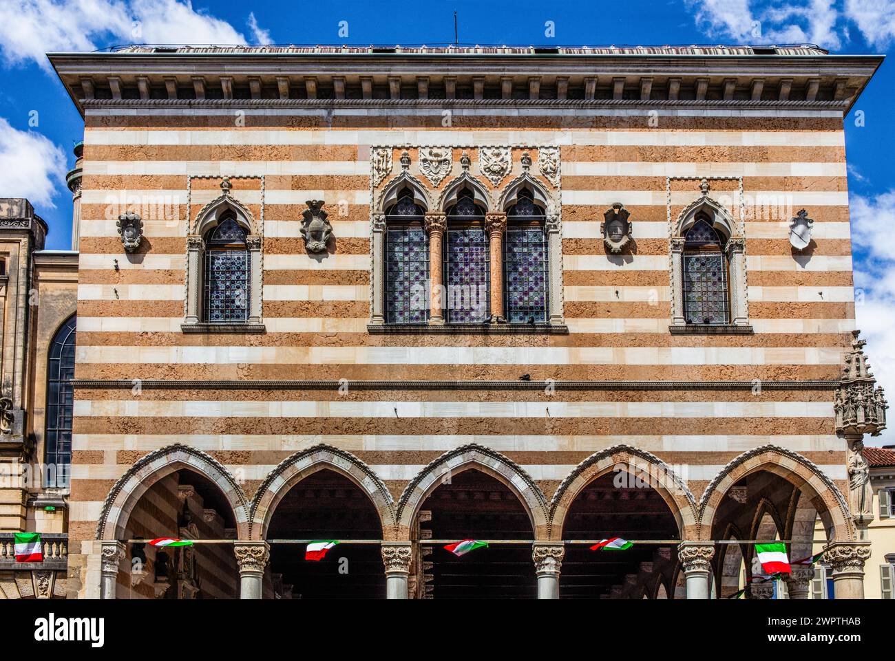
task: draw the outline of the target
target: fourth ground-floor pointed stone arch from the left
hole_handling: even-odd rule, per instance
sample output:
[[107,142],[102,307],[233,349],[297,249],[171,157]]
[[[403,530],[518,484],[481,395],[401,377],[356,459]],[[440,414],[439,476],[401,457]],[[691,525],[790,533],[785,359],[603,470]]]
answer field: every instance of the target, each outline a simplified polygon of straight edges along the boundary
[[593,453],[584,462],[575,466],[557,487],[550,500],[550,535],[561,538],[566,514],[575,497],[594,479],[617,470],[636,471],[635,477],[646,474],[650,486],[654,488],[678,524],[681,539],[688,539],[696,529],[696,504],[693,494],[669,465],[655,454],[630,445],[612,445]]

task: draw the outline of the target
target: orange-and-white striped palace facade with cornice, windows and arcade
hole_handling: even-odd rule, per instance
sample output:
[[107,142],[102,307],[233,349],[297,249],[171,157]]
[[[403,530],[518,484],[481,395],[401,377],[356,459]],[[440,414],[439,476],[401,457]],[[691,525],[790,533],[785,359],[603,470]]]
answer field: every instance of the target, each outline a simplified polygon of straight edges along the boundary
[[68,597],[726,597],[818,518],[863,596],[843,118],[881,58],[50,61],[85,122]]

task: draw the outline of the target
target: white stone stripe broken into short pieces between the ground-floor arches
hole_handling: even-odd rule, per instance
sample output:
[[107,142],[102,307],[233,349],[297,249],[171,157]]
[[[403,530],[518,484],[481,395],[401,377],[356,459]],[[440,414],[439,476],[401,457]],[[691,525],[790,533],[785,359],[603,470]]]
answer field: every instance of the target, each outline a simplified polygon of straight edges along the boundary
[[[238,475],[241,479],[262,480],[268,474],[277,468],[272,464],[225,464],[226,469],[231,473]],[[126,464],[97,466],[85,464],[72,465],[72,479],[118,479],[126,470],[131,468]],[[423,464],[417,463],[397,463],[397,464],[372,464],[371,470],[379,476],[379,479],[405,479],[410,480],[425,470]],[[565,479],[567,475],[575,469],[572,464],[523,464],[523,470],[528,473],[532,479],[537,480],[555,480]],[[676,466],[678,469],[678,477],[684,480],[710,480],[714,478],[724,466],[720,464],[684,464]],[[820,464],[818,466],[831,479],[846,479],[847,473],[845,466],[836,464]],[[91,507],[86,506],[88,503],[81,503],[81,507],[90,511]],[[74,505],[74,504],[72,504]],[[98,504],[102,506],[101,503]],[[95,513],[98,515],[98,512]],[[72,519],[74,518],[72,512]],[[95,518],[87,519],[87,521],[95,521]]]

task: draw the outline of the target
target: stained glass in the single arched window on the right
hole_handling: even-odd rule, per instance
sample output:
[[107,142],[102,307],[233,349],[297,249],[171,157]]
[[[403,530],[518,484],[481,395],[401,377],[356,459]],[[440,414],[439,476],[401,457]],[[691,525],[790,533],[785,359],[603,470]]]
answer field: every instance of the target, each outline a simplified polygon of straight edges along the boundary
[[686,233],[684,315],[688,324],[729,323],[728,267],[724,242],[705,218]]

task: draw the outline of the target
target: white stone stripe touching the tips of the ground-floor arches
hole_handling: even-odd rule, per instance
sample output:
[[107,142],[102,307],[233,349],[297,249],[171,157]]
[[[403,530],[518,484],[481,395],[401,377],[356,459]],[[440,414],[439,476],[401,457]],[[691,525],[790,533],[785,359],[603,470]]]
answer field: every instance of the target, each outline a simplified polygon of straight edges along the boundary
[[[536,436],[536,435],[344,435],[325,434],[188,434],[178,436],[181,443],[205,452],[215,450],[257,450],[297,452],[325,443],[349,451],[377,450],[447,452],[460,445],[476,443],[498,452],[596,452],[610,445],[624,444],[649,452],[746,452],[772,443],[793,452],[841,452],[842,440],[824,435],[613,435],[613,436]],[[167,445],[165,434],[74,434],[72,449],[150,451]]]

